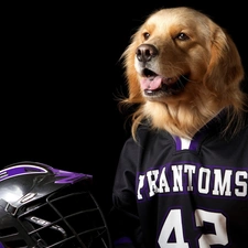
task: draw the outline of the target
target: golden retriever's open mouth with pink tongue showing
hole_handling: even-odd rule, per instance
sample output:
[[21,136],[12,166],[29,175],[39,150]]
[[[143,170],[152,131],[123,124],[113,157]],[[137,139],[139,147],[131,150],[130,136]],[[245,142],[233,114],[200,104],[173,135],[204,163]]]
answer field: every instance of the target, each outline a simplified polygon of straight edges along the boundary
[[188,82],[186,75],[180,77],[163,77],[148,68],[144,68],[142,74],[144,77],[141,78],[140,84],[141,89],[144,90],[147,96],[159,96],[161,94],[176,95],[184,89]]

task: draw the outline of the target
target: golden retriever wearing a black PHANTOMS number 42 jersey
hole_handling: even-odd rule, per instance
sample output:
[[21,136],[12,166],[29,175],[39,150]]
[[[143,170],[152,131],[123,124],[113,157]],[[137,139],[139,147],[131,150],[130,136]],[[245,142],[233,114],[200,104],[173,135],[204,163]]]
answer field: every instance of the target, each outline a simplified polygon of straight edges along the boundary
[[186,7],[151,13],[123,52],[132,133],[112,186],[115,247],[248,247],[245,69]]

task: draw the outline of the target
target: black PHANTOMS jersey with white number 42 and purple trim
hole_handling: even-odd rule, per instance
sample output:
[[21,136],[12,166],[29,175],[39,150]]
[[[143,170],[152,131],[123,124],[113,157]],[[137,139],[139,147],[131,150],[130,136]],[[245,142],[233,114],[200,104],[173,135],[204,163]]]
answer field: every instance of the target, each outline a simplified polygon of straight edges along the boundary
[[140,126],[138,142],[126,141],[110,215],[116,247],[248,247],[248,127],[223,138],[218,121],[192,140]]

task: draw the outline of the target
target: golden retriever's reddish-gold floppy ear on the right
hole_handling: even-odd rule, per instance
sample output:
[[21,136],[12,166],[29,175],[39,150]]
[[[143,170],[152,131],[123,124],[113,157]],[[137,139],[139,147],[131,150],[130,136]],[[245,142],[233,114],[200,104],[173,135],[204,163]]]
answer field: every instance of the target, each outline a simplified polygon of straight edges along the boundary
[[[238,50],[227,32],[212,23],[211,62],[205,75],[205,85],[213,93],[235,90],[244,79],[244,67]],[[225,88],[223,88],[225,86]]]

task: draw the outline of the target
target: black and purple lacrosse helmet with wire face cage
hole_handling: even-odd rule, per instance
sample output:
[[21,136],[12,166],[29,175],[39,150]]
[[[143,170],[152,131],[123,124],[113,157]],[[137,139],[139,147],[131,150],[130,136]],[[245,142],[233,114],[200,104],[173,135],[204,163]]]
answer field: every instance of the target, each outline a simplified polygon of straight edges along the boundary
[[93,176],[20,162],[0,171],[0,248],[110,248]]

